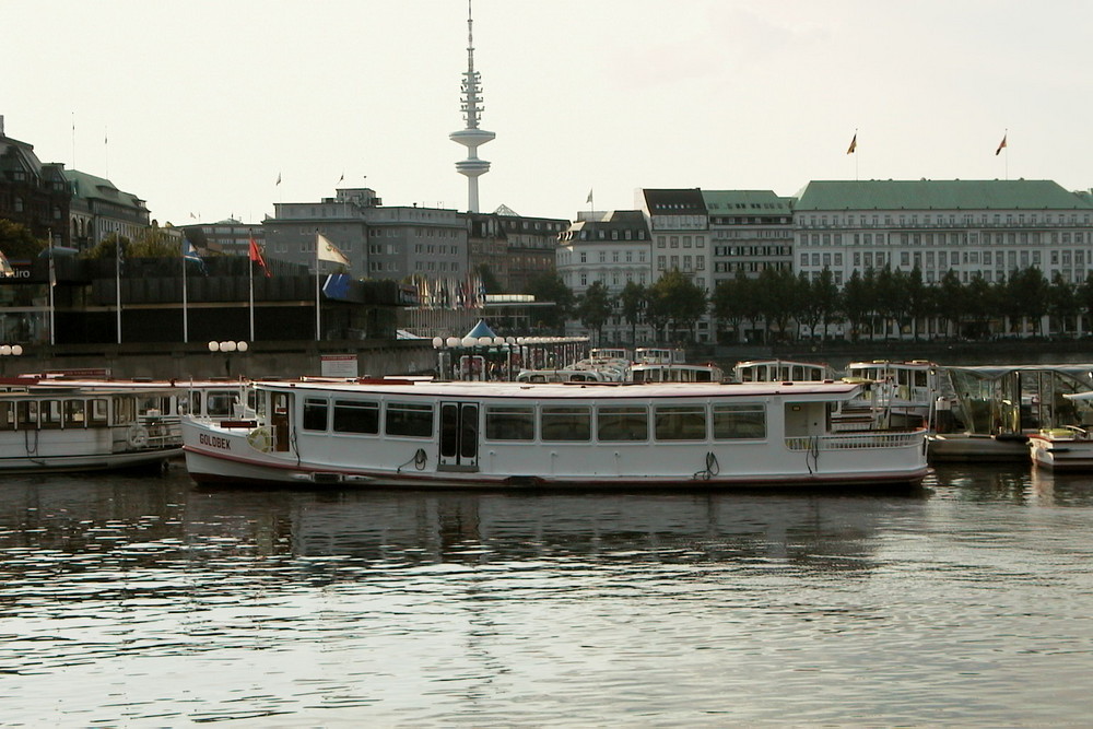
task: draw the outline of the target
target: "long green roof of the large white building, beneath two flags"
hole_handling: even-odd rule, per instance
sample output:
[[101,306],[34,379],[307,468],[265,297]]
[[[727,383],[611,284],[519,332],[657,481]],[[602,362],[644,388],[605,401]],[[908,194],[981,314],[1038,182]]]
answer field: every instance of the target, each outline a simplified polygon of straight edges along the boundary
[[823,210],[1090,210],[1046,179],[812,181],[798,193],[798,212]]

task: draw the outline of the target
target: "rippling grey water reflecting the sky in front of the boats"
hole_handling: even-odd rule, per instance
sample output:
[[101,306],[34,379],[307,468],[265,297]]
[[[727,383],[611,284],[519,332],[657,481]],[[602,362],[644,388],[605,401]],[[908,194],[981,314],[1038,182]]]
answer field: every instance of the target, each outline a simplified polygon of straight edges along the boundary
[[9,479],[0,712],[62,726],[1081,720],[1093,482],[945,467],[927,485]]

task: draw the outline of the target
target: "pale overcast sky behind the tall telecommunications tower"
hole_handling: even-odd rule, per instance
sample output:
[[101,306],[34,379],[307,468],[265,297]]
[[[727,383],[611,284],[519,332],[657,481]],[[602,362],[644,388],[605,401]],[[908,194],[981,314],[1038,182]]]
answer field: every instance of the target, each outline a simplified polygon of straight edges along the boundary
[[[259,222],[342,175],[385,204],[467,207],[448,139],[466,0],[2,9],[8,136],[161,223]],[[481,209],[572,219],[589,190],[610,210],[642,187],[788,196],[856,177],[1088,189],[1091,31],[1085,0],[474,0],[497,134]]]

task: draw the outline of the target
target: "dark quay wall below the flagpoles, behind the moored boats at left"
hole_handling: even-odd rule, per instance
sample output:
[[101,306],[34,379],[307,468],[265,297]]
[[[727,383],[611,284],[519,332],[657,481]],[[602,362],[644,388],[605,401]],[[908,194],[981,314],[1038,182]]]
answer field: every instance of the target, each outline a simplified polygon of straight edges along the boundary
[[[111,377],[205,379],[297,377],[322,374],[322,357],[356,357],[360,377],[432,374],[431,341],[376,340],[249,342],[246,352],[210,352],[207,342],[26,345],[22,356],[0,357],[0,376],[57,371],[102,371]],[[350,361],[351,362],[351,361]]]

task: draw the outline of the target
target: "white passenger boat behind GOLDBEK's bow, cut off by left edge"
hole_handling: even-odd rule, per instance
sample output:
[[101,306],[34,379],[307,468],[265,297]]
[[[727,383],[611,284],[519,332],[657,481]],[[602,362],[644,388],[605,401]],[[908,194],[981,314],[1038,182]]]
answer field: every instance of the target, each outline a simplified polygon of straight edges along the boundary
[[178,428],[142,411],[142,399],[153,395],[120,386],[38,384],[0,392],[0,471],[132,468],[180,456]]

